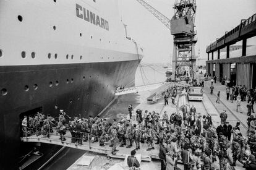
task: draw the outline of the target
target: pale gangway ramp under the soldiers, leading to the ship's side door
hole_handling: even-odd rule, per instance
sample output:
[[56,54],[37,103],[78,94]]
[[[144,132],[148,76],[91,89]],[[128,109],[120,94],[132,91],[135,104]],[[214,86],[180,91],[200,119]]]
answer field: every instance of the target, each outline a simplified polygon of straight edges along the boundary
[[[92,134],[88,133],[83,133],[87,135],[87,137],[90,135],[92,137]],[[116,152],[116,155],[112,155],[111,153],[111,147],[109,147],[109,142],[105,143],[104,147],[100,147],[99,142],[92,142],[91,139],[87,140],[87,142],[82,142],[82,144],[78,143],[72,143],[72,137],[69,132],[69,130],[66,130],[66,135],[65,135],[66,140],[63,141],[60,139],[60,136],[57,133],[56,129],[53,129],[53,132],[49,134],[49,138],[46,137],[45,135],[30,135],[28,137],[21,137],[20,140],[22,142],[34,142],[34,143],[48,143],[48,144],[53,144],[53,145],[60,145],[64,147],[69,147],[69,148],[75,148],[79,150],[85,150],[85,151],[91,151],[93,153],[99,153],[108,156],[109,158],[119,158],[119,159],[124,159],[126,155],[130,155],[130,148],[118,148],[119,151]],[[105,140],[106,141],[106,140]],[[159,148],[156,148],[155,150],[151,151],[146,151],[147,149],[147,144],[143,147],[141,146],[141,150],[137,151],[137,153],[140,153],[142,155],[142,161],[151,161],[151,158],[158,158],[158,151]]]

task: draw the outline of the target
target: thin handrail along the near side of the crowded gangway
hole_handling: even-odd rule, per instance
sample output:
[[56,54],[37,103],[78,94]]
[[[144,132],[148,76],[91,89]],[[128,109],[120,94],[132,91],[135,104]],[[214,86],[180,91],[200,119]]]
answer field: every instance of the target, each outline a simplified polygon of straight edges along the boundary
[[[70,132],[69,129],[59,130],[56,127],[53,127],[53,129],[46,129],[46,130],[44,129],[41,132],[38,130],[36,130],[35,132],[30,132],[30,130],[36,130],[36,127],[32,127],[32,128],[27,127],[27,130],[22,128],[23,133],[27,134],[24,137],[22,137],[23,138],[22,140],[28,141],[29,138],[38,138],[38,142],[39,142],[41,138],[41,139],[49,140],[49,142],[54,140],[54,141],[61,141],[61,143],[65,142],[69,144],[75,144],[75,146],[81,145],[81,146],[89,147],[90,150],[92,150],[92,143],[97,143],[98,141],[98,143],[101,144],[101,147],[104,145],[105,154],[107,154],[107,151],[108,151],[108,149],[106,148],[107,145],[111,143],[111,137],[107,134],[101,136],[101,135],[93,135],[92,133],[88,133],[88,132]],[[79,135],[80,137],[72,137],[69,134],[67,134],[69,132],[70,134],[74,133],[75,136]]]

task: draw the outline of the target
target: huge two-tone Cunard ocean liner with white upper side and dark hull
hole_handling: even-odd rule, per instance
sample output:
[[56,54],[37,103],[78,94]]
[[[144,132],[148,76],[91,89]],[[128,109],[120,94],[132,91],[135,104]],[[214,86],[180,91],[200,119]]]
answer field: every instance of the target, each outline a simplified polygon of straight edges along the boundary
[[18,167],[24,115],[96,116],[142,57],[117,0],[1,0],[0,169]]

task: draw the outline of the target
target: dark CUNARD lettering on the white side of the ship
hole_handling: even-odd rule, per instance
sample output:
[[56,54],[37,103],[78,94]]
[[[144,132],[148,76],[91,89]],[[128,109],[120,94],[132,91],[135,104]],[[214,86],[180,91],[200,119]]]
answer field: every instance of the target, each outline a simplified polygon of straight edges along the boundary
[[96,26],[99,26],[105,30],[109,30],[108,21],[94,14],[92,11],[85,9],[79,4],[75,4],[77,10],[77,17],[80,19],[86,20],[87,22],[93,23]]

